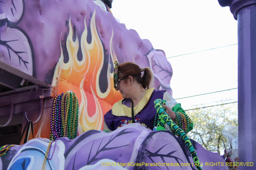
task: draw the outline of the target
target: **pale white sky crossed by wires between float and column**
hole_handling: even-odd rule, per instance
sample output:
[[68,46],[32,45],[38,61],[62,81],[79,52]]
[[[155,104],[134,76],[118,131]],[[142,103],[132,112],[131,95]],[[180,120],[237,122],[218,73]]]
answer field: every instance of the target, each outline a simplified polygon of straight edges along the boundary
[[164,50],[173,69],[173,97],[184,110],[237,101],[237,89],[200,95],[237,88],[237,21],[229,7],[218,0],[114,0],[111,11]]

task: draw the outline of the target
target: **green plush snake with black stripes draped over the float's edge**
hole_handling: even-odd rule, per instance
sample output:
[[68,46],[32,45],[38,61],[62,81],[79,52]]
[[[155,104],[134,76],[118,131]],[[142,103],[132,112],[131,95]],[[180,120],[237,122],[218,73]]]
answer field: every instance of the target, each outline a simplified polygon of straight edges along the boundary
[[167,124],[173,131],[175,131],[176,134],[187,145],[187,148],[189,149],[189,152],[190,152],[190,154],[193,158],[193,161],[195,163],[195,167],[197,167],[197,170],[201,170],[201,167],[199,165],[199,159],[197,157],[195,149],[192,146],[192,143],[190,142],[189,138],[187,137],[187,134],[172,121],[172,119],[169,117],[169,115],[165,112],[165,109],[162,107],[162,105],[164,105],[165,102],[166,102],[165,100],[161,100],[161,99],[156,99],[154,101],[154,106],[155,106],[156,112],[159,115],[156,130],[165,130],[164,127],[165,127],[165,124]]

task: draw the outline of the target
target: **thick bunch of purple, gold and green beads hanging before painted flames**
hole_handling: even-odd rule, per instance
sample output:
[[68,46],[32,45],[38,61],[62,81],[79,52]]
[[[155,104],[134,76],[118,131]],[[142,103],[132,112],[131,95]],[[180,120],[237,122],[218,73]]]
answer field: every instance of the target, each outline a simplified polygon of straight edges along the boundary
[[51,109],[50,140],[60,137],[75,139],[78,135],[78,100],[74,93],[58,94]]

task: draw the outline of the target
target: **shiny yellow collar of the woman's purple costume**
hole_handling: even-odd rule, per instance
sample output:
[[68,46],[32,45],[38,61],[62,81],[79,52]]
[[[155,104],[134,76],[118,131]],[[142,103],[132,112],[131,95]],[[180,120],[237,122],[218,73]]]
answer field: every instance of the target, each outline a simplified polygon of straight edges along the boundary
[[[134,116],[136,116],[146,106],[154,90],[155,88],[146,89],[146,94],[144,95],[144,97],[135,107],[133,107]],[[127,107],[126,105],[122,105],[122,101],[123,99],[113,105],[112,114],[115,116],[126,116],[131,118],[132,108]]]

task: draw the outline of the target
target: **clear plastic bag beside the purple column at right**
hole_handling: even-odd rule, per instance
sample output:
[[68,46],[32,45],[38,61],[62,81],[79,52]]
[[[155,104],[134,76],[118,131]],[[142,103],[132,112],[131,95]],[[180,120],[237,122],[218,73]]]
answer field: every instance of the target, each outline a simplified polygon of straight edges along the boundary
[[221,133],[233,149],[238,149],[238,126],[223,128]]

